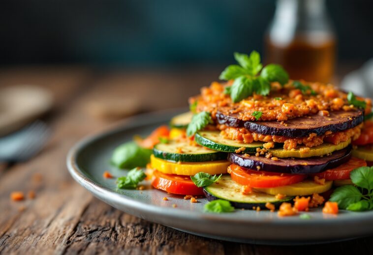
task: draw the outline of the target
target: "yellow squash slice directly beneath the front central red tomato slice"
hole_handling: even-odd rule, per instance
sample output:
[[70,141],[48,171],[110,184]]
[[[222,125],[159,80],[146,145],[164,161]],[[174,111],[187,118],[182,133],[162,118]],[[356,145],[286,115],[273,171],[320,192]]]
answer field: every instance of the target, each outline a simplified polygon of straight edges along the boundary
[[270,195],[286,194],[288,196],[308,196],[313,193],[323,193],[332,188],[333,181],[325,181],[325,184],[317,184],[313,180],[304,180],[286,186],[279,186],[273,188],[255,189]]

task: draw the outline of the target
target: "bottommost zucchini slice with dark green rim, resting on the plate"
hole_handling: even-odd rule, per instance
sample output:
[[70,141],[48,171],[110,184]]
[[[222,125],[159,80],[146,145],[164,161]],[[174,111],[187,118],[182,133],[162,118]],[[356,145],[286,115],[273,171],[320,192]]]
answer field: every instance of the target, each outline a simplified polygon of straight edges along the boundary
[[231,202],[236,208],[253,209],[252,207],[265,208],[267,202],[280,205],[282,202],[291,201],[294,197],[277,199],[273,195],[255,192],[244,195],[241,192],[242,185],[235,183],[230,175],[223,175],[221,178],[210,186],[204,188],[204,193],[208,200],[224,199]]

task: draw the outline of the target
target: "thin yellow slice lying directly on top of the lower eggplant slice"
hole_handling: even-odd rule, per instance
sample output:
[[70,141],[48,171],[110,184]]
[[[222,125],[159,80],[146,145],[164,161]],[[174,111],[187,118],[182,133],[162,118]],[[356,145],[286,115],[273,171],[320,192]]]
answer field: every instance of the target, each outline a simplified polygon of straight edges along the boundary
[[310,149],[303,149],[304,146],[299,146],[297,149],[285,150],[285,149],[270,149],[272,156],[278,158],[310,158],[316,156],[323,156],[332,153],[336,150],[342,150],[351,143],[351,139],[346,142],[341,142],[337,145],[332,143],[323,143],[316,147],[311,147]]

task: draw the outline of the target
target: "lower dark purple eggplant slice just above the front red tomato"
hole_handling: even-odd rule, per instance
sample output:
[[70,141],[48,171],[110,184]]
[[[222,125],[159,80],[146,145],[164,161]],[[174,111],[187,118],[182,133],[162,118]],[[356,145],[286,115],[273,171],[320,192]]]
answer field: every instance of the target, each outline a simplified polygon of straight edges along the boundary
[[279,158],[277,161],[265,157],[245,156],[243,154],[230,153],[228,160],[232,164],[250,170],[268,172],[281,172],[293,174],[318,173],[336,168],[351,158],[351,146],[333,152],[329,156],[311,158]]

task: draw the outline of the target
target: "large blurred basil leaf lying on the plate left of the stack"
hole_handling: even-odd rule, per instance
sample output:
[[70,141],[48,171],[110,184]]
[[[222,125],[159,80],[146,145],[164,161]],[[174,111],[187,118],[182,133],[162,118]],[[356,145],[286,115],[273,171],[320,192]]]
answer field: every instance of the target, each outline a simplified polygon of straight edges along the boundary
[[111,163],[122,169],[145,167],[150,162],[152,150],[140,147],[136,142],[118,146],[111,157]]

